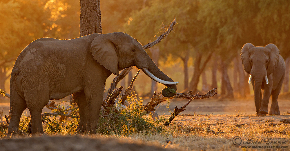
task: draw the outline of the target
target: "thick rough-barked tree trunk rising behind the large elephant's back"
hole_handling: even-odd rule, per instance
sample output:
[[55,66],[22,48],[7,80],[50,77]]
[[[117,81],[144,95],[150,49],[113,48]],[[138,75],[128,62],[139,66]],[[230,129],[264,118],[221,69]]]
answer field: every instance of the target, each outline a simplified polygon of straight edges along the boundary
[[100,0],[80,0],[80,36],[102,34]]

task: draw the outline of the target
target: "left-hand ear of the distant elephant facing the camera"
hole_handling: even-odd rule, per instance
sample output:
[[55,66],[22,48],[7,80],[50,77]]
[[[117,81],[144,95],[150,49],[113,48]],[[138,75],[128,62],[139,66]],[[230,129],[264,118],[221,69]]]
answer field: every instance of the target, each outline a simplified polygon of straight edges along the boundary
[[241,59],[244,65],[244,69],[247,73],[251,74],[252,65],[250,63],[250,49],[255,47],[251,43],[246,43],[241,49]]

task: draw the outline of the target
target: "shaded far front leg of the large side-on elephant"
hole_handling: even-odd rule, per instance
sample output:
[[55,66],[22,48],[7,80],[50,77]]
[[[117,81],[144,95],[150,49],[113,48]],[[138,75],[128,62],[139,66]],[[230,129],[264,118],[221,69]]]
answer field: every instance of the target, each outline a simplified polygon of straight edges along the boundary
[[88,109],[84,91],[74,93],[73,100],[77,103],[79,108],[79,125],[77,126],[77,133],[84,133],[86,132],[88,122]]

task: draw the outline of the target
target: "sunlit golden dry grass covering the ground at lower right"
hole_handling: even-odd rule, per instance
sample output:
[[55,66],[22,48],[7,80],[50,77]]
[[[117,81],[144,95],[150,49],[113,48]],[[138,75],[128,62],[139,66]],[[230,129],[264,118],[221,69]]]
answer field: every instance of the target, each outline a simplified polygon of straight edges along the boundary
[[[166,116],[168,117],[168,116]],[[135,132],[123,135],[79,135],[86,138],[114,138],[128,142],[149,143],[163,148],[177,150],[289,150],[288,149],[242,149],[240,146],[290,146],[289,124],[280,123],[280,119],[289,115],[185,115],[178,116],[162,132]],[[244,125],[243,125],[244,124]],[[277,124],[277,125],[276,125]],[[222,133],[224,132],[224,133]],[[62,135],[70,135],[62,133]],[[55,136],[55,135],[50,135]],[[286,141],[286,144],[233,144],[233,137],[253,138],[254,141],[271,139]],[[29,136],[28,136],[29,137]],[[3,136],[1,137],[3,139]]]

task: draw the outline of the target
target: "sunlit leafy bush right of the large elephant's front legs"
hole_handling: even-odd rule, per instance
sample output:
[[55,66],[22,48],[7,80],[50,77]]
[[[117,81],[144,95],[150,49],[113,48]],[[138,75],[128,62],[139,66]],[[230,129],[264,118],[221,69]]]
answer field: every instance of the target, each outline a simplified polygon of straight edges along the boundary
[[99,118],[99,133],[130,136],[137,132],[155,133],[163,130],[161,124],[165,118],[154,121],[150,116],[146,116],[142,98],[137,99],[135,95],[130,95],[127,101],[130,105],[119,113],[112,110],[109,113],[110,117]]

